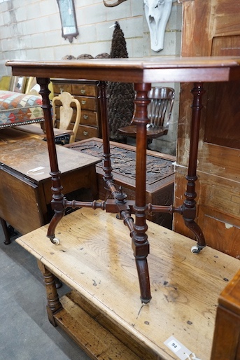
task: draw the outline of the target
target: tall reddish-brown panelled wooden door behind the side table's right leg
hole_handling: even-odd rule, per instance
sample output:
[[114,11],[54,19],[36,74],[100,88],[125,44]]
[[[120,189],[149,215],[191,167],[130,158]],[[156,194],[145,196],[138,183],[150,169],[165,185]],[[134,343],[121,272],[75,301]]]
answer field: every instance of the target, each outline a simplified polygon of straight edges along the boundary
[[[240,0],[181,0],[183,56],[240,56]],[[188,166],[192,84],[181,85],[175,205],[184,200]],[[197,223],[206,243],[240,256],[240,88],[239,83],[205,84],[197,165]],[[174,229],[192,237],[183,219]]]

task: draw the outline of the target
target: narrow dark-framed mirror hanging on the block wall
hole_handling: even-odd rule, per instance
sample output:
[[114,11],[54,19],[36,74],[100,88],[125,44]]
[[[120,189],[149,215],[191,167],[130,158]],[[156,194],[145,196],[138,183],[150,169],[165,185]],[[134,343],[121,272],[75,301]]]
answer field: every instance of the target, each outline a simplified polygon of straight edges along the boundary
[[69,42],[78,36],[76,12],[73,0],[57,0],[62,22],[62,37]]

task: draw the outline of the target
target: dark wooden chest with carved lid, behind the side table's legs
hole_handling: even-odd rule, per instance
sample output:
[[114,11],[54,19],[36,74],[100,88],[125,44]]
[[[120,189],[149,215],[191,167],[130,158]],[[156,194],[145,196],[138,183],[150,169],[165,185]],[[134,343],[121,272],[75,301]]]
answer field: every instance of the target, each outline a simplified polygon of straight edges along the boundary
[[[136,148],[114,141],[111,144],[111,165],[113,178],[117,186],[122,186],[122,191],[127,193],[129,200],[135,198],[135,155]],[[103,144],[98,138],[77,141],[68,144],[76,151],[97,156],[103,159]],[[174,197],[174,169],[172,163],[174,156],[147,151],[147,174],[146,174],[146,203],[153,205],[171,205]],[[103,160],[96,165],[99,198],[104,200],[109,193],[104,188]],[[172,216],[170,214],[149,214],[148,220],[154,221],[166,228],[171,229]]]

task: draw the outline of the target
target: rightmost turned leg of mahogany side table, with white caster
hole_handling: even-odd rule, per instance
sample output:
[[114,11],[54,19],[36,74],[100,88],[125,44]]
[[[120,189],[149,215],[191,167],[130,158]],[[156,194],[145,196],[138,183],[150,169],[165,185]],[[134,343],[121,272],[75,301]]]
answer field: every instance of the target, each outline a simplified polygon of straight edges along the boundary
[[197,181],[197,153],[199,144],[199,127],[202,110],[202,95],[204,95],[203,83],[195,83],[192,89],[192,127],[190,135],[190,153],[188,162],[188,180],[187,191],[185,192],[185,201],[183,202],[183,219],[185,226],[192,230],[192,233],[197,237],[197,247],[192,247],[192,252],[199,253],[205,246],[206,242],[201,228],[195,223],[196,216],[196,202],[195,198],[195,181]]

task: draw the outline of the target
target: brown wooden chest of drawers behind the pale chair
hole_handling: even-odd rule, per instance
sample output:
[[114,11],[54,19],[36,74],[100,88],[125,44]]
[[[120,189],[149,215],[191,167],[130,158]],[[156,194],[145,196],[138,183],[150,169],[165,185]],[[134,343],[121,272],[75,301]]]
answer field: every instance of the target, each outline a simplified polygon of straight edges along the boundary
[[[52,79],[54,95],[63,91],[70,92],[79,100],[81,106],[81,118],[76,134],[76,141],[89,139],[90,137],[101,137],[101,115],[98,105],[97,81]],[[57,109],[57,120],[59,110]],[[73,114],[73,120],[74,114]],[[71,130],[73,124],[71,124]]]

